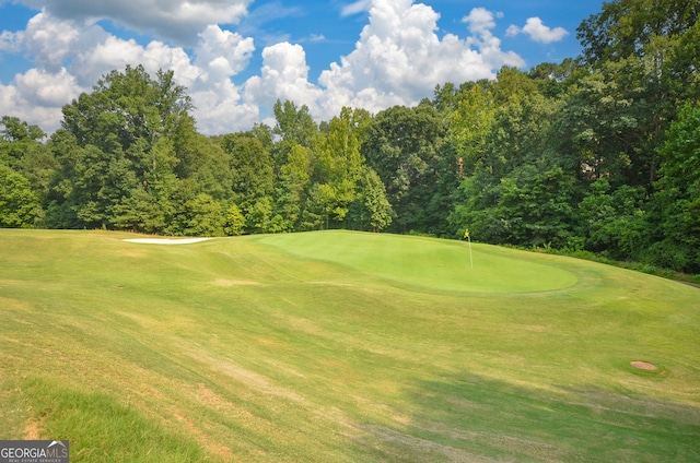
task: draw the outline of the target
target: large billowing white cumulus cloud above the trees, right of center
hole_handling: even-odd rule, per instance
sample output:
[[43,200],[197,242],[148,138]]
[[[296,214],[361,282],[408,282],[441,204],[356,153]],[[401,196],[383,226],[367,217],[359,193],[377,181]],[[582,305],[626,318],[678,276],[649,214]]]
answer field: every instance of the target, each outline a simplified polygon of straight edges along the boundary
[[504,64],[524,66],[514,52],[502,51],[490,28],[498,13],[474,9],[464,22],[472,37],[446,34],[440,38],[440,14],[411,0],[374,0],[370,24],[355,48],[331,63],[318,83],[328,114],[342,106],[377,111],[392,105],[413,105],[432,96],[436,84],[492,79]]

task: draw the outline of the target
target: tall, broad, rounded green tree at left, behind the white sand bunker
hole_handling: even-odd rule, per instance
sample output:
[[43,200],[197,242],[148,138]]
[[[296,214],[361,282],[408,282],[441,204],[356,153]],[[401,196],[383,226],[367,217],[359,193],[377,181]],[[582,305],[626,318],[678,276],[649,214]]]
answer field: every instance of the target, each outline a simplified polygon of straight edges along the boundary
[[[177,206],[171,204],[179,188],[177,167],[210,157],[190,108],[172,71],[151,79],[142,67],[110,72],[93,93],[63,107],[62,129],[49,144],[59,164],[48,197],[49,225],[161,230]],[[208,164],[184,170],[194,176]],[[197,179],[205,186],[200,192],[220,189],[215,173],[221,170],[210,169],[211,188]]]

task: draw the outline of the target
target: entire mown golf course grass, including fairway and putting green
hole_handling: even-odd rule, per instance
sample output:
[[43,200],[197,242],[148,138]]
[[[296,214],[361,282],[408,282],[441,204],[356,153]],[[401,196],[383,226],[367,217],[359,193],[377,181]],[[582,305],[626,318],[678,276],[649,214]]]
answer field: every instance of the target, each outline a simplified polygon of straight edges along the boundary
[[75,462],[700,461],[698,288],[478,244],[471,268],[420,237],[130,237],[0,230],[0,439]]

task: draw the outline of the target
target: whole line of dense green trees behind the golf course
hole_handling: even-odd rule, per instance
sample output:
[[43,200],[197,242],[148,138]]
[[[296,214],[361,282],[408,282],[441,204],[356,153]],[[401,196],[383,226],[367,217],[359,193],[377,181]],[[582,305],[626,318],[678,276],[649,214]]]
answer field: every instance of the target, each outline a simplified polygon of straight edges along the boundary
[[48,139],[0,124],[0,226],[241,235],[387,230],[585,250],[700,272],[700,5],[617,0],[583,54],[415,107],[197,132],[173,72],[127,67]]

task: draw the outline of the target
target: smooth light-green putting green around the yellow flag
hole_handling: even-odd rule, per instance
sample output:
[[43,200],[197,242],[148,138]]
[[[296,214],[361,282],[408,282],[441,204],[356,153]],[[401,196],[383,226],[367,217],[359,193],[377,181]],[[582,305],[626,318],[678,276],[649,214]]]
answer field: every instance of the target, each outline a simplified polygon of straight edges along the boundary
[[470,259],[467,242],[415,236],[329,230],[268,235],[258,241],[422,290],[537,293],[578,281],[544,256],[488,245],[472,244]]

